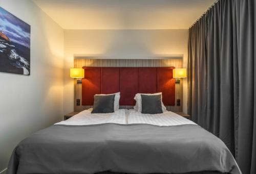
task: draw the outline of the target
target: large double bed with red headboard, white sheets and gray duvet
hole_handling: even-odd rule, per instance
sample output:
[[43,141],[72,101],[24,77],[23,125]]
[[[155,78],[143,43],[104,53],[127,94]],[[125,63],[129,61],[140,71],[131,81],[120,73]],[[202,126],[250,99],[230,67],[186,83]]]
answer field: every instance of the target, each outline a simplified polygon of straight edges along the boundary
[[[138,92],[161,91],[160,105],[175,105],[173,68],[84,67],[82,104],[120,91],[120,105],[135,105]],[[137,110],[84,110],[38,131],[16,146],[7,173],[241,174],[226,145],[193,121]]]

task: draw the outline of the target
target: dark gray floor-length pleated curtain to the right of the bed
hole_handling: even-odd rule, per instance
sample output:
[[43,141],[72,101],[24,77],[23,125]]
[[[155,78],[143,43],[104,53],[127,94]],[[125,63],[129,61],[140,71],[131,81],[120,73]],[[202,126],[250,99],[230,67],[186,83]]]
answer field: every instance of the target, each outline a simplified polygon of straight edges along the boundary
[[256,3],[220,0],[190,29],[188,113],[256,173]]

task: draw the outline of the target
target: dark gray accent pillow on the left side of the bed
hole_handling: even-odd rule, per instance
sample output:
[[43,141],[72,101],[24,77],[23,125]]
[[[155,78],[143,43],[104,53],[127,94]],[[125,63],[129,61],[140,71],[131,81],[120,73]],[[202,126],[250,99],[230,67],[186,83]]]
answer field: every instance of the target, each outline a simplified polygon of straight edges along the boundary
[[92,114],[114,112],[114,95],[94,95]]

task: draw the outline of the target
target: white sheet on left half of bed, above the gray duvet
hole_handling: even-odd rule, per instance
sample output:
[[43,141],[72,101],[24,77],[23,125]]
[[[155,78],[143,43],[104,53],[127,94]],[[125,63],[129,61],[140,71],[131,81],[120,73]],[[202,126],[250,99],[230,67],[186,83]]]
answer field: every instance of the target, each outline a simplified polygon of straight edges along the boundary
[[73,117],[55,123],[55,125],[96,125],[101,123],[126,124],[125,109],[119,109],[114,113],[91,114],[90,110],[84,110]]

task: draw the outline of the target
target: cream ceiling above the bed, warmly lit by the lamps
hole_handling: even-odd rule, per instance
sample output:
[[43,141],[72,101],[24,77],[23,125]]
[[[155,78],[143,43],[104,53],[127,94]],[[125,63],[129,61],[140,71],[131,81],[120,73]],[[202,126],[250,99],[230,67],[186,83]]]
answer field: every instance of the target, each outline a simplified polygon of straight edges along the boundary
[[33,0],[63,29],[188,29],[216,0]]

